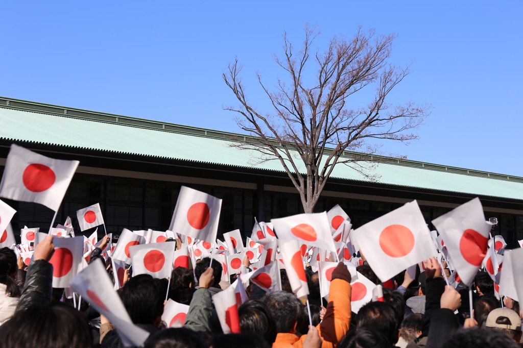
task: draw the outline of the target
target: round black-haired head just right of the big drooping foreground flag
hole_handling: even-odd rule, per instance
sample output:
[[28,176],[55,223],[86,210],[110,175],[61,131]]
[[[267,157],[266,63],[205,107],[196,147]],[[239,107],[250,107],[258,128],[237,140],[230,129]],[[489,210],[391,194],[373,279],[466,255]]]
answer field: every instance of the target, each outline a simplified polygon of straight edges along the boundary
[[149,274],[134,276],[123,285],[120,297],[133,323],[161,323],[165,289],[160,279]]

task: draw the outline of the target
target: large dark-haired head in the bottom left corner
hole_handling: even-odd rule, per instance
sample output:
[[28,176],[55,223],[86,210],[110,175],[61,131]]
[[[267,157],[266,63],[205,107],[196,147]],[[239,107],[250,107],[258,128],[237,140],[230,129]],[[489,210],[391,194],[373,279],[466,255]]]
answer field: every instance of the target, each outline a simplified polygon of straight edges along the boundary
[[84,316],[63,304],[33,305],[0,326],[2,348],[89,348],[93,338]]

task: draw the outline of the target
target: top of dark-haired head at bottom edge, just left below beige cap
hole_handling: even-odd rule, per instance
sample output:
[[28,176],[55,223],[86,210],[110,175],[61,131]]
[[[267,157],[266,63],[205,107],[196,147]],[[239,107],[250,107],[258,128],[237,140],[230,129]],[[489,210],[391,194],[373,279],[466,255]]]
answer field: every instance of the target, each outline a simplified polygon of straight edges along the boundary
[[454,333],[445,343],[444,348],[511,348],[519,345],[508,336],[496,330],[470,328]]

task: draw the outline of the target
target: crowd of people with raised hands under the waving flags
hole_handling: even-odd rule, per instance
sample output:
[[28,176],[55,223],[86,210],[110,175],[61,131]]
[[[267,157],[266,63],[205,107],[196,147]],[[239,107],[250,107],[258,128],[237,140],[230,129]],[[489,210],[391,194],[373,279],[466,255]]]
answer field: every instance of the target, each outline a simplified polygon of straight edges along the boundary
[[[111,279],[110,259],[96,248],[90,262],[104,262]],[[53,237],[35,248],[26,266],[9,248],[0,249],[0,348],[123,347],[112,323],[89,303],[73,305],[63,288],[52,287]],[[150,333],[146,348],[384,348],[384,347],[516,347],[521,340],[519,304],[494,296],[494,282],[478,272],[473,283],[473,311],[468,287],[446,285],[440,263],[425,261],[416,276],[402,272],[383,298],[351,311],[351,274],[340,262],[332,273],[328,302],[320,298],[319,274],[306,268],[309,308],[292,292],[285,270],[282,290],[265,292],[251,283],[249,297],[238,308],[241,333],[223,334],[212,295],[234,282],[221,281],[222,265],[209,258],[189,269],[177,267],[170,281],[151,275],[126,274],[118,294],[132,322]],[[247,261],[248,262],[248,261]],[[248,263],[247,263],[248,264]],[[443,265],[446,266],[445,264]],[[371,267],[357,267],[381,284]],[[165,299],[189,305],[185,322],[168,328],[162,321]]]

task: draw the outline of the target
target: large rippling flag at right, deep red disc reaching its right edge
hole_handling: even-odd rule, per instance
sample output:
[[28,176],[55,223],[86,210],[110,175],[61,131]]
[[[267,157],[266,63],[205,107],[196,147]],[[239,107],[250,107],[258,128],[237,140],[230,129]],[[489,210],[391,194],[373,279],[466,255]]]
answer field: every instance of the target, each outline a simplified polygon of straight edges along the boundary
[[462,204],[432,223],[445,240],[445,247],[461,281],[469,286],[485,258],[492,226],[485,221],[480,199]]

